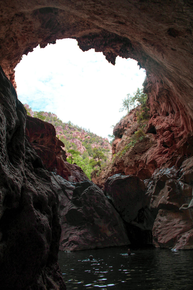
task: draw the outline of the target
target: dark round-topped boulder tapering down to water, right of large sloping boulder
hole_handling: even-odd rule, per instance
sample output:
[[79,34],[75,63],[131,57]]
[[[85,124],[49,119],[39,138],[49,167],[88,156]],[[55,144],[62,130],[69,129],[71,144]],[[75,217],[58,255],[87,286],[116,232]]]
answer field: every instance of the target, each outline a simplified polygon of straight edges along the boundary
[[125,221],[131,243],[151,244],[154,218],[144,182],[134,175],[115,174],[106,180],[104,192]]

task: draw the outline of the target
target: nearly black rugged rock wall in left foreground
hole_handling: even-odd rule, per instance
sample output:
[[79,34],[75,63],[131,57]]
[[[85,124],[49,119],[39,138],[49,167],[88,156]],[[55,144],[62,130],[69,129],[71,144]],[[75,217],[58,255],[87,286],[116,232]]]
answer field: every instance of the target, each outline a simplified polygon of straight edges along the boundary
[[1,289],[63,290],[56,194],[25,138],[25,109],[1,68],[0,94]]

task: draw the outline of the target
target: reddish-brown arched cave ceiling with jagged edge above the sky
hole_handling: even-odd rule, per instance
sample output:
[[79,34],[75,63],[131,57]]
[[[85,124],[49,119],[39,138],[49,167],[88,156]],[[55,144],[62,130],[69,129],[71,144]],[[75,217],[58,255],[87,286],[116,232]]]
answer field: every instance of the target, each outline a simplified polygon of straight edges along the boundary
[[1,0],[0,19],[0,64],[12,82],[23,54],[74,38],[112,64],[136,59],[193,118],[193,1]]

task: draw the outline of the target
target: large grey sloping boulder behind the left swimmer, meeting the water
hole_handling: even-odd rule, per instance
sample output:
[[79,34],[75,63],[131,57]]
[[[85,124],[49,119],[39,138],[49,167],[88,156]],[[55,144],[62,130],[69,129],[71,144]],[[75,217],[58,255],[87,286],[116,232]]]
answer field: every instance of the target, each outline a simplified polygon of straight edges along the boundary
[[60,250],[83,250],[129,244],[122,219],[92,182],[72,184],[53,175],[62,226]]

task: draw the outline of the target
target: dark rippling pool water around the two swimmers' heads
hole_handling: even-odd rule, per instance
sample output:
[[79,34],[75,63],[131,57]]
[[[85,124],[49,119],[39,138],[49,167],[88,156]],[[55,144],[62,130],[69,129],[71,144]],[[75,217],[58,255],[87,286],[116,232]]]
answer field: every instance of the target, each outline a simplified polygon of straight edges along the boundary
[[126,253],[126,247],[60,251],[67,289],[192,290],[193,251],[148,248]]

